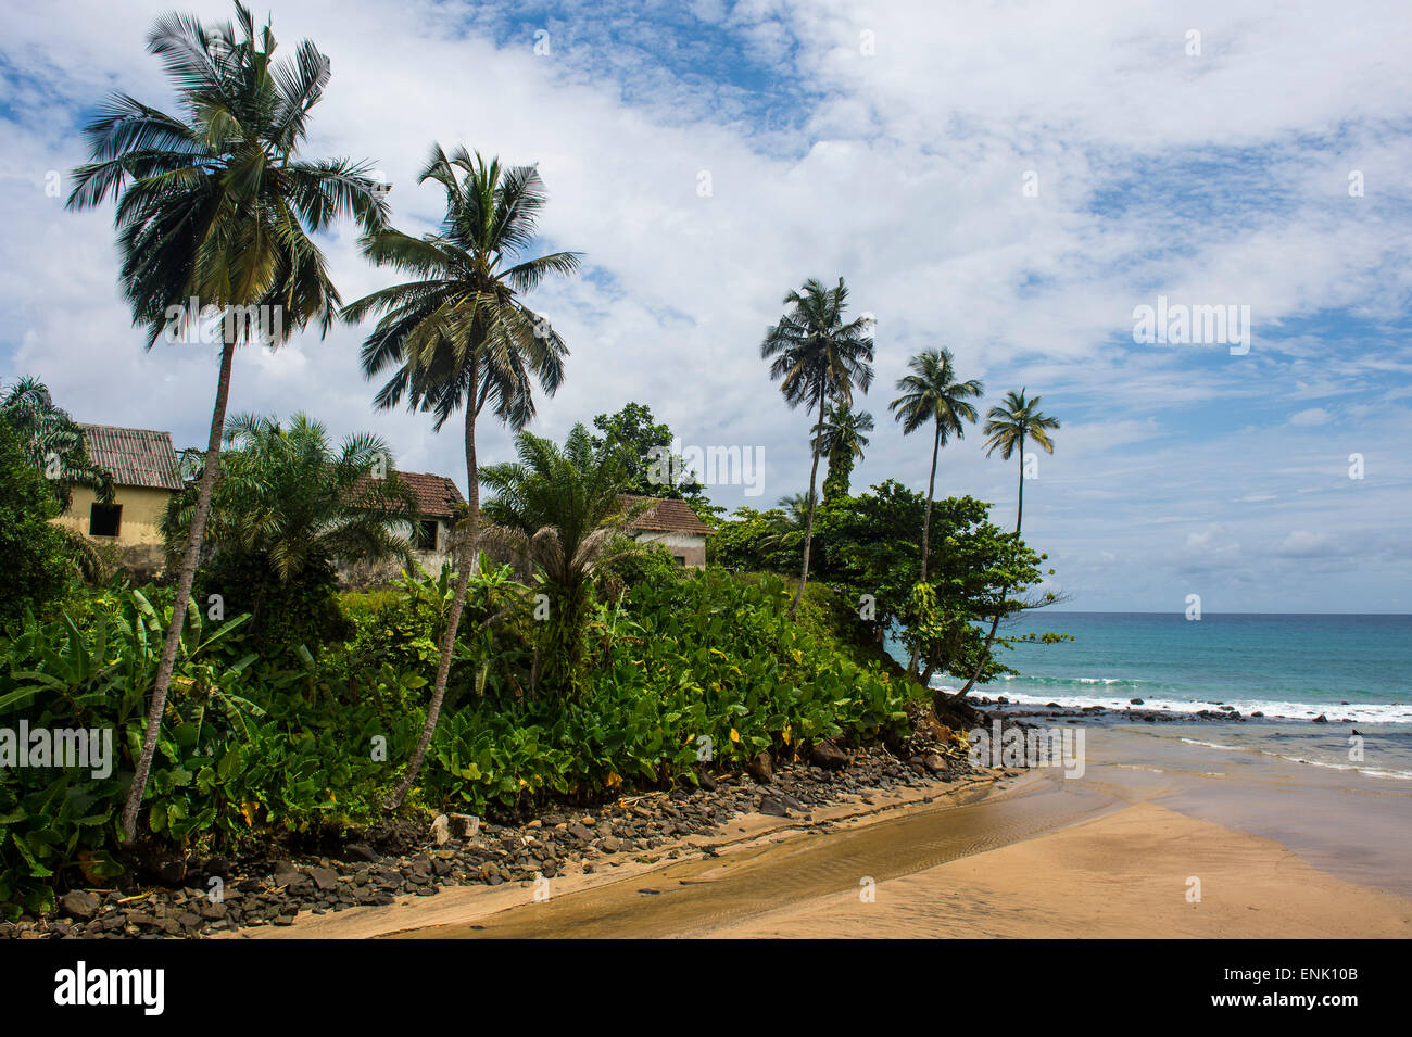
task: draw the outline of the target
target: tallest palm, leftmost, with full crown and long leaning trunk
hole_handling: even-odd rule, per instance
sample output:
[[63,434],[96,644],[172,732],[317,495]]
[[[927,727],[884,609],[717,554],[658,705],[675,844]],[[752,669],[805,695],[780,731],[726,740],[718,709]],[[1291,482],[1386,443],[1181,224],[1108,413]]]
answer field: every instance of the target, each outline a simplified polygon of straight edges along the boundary
[[250,319],[256,313],[263,317],[258,337],[271,346],[311,320],[328,330],[339,295],[309,234],[349,214],[369,231],[387,214],[366,164],[298,157],[309,111],[329,82],[328,58],[304,41],[277,61],[268,23],[257,31],[239,3],[236,21],[239,34],[230,23],[203,25],[185,14],[154,24],[147,49],[162,59],[181,116],[113,95],[85,128],[92,161],[73,171],[68,199],[71,209],[117,202],[120,281],[133,323],[147,329],[147,348],[164,329],[168,337],[189,334],[198,313],[210,309],[223,313],[225,323],[205,477],[123,808],[127,839],[137,835],[186,619],[236,346],[257,337]]

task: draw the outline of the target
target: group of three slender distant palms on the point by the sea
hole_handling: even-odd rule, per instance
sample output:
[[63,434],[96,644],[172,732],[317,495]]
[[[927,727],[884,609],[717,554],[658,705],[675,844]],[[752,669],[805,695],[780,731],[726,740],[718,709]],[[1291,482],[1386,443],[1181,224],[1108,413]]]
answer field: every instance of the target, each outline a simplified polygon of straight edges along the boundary
[[[829,459],[825,499],[837,492],[846,494],[853,461],[861,459],[864,447],[868,446],[864,433],[873,430],[873,415],[853,409],[854,389],[866,394],[873,382],[870,334],[873,322],[868,316],[846,319],[847,301],[849,289],[843,278],[833,286],[826,286],[818,279],[806,281],[802,289],[791,291],[785,296],[784,305],[791,308],[789,312],[765,333],[760,346],[760,356],[772,361],[770,377],[779,381],[785,402],[791,408],[808,404],[819,412],[812,429],[813,463],[809,470],[809,490],[806,494],[781,498],[781,505],[801,516],[805,530],[803,567],[799,573],[799,588],[789,608],[791,618],[798,611],[803,588],[809,581],[819,459]],[[966,425],[979,420],[980,415],[971,401],[980,399],[984,387],[976,378],[962,381],[957,377],[956,358],[950,350],[932,348],[918,353],[908,361],[908,374],[898,378],[897,389],[901,395],[888,405],[888,409],[902,425],[902,435],[909,436],[918,429],[932,432],[932,467],[926,483],[919,580],[925,584],[931,554],[932,502],[936,497],[936,460],[950,439],[963,439]],[[1059,420],[1039,409],[1039,396],[1027,396],[1025,389],[1007,392],[1004,401],[993,406],[986,416],[983,435],[987,456],[998,450],[1005,460],[1011,456],[1019,457],[1015,536],[1019,536],[1025,504],[1025,440],[1034,440],[1048,453],[1053,453],[1049,433],[1058,427]],[[997,614],[991,622],[986,639],[987,652],[994,642],[1000,618]],[[908,669],[912,672],[916,669],[915,653]],[[974,681],[973,676],[962,694],[970,690]]]

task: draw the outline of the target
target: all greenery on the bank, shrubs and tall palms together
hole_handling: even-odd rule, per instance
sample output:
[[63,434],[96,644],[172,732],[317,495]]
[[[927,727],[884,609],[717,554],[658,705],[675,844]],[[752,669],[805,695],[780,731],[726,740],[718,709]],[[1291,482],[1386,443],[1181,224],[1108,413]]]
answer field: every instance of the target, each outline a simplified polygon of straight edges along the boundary
[[[110,494],[110,480],[42,384],[18,382],[0,406],[0,538],[23,574],[0,593],[0,734],[95,732],[85,745],[99,753],[107,732],[112,752],[0,768],[0,911],[51,910],[58,890],[154,855],[240,854],[426,811],[517,815],[706,782],[761,753],[892,739],[933,698],[933,676],[1011,672],[998,624],[1053,601],[1041,593],[1052,570],[1018,514],[1008,532],[983,501],[936,498],[938,451],[981,395],[947,350],[915,357],[891,405],[904,433],[932,432],[925,495],[892,478],[850,487],[874,433],[854,399],[874,343],[843,278],[791,291],[760,346],[785,404],[812,418],[808,491],[779,508],[723,516],[689,473],[651,483],[647,457],[674,437],[640,402],[599,415],[597,435],[537,436],[534,387],[558,389],[568,346],[524,296],[579,255],[518,258],[546,205],[535,168],[436,145],[421,179],[446,193],[438,231],[393,229],[364,164],[297,154],[328,61],[302,42],[277,62],[268,25],[236,11],[234,27],[157,24],[150,49],[184,114],[113,97],[69,203],[117,202],[121,285],[148,348],[189,298],[274,305],[285,337],[376,317],[361,371],[388,380],[371,402],[426,413],[433,430],[460,412],[469,508],[441,571],[411,564],[400,522],[412,499],[388,444],[335,446],[306,415],[227,419],[241,332],[220,347],[209,443],[185,459],[162,525],[168,578],[134,586],[52,525],[73,485]],[[408,279],[345,306],[309,236],[349,216],[366,258]],[[487,405],[517,457],[483,466]],[[1019,451],[1021,494],[1025,437],[1052,449],[1058,423],[1042,418],[993,411],[986,427],[1003,457]],[[627,536],[648,507],[627,494],[688,501],[713,526],[709,566],[683,570]],[[339,587],[340,564],[385,559],[404,563],[400,581]]]

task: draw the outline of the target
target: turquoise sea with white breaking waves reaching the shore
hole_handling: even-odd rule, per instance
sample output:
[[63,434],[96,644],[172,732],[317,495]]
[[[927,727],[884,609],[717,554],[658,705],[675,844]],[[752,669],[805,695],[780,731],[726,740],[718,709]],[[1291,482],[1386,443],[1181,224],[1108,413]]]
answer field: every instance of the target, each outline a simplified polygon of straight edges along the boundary
[[[1412,615],[1028,612],[1005,635],[1066,633],[1055,645],[1021,643],[1001,659],[1018,673],[973,696],[1019,705],[1058,703],[1176,714],[1163,735],[1243,756],[1412,779]],[[892,646],[895,656],[899,646]],[[938,687],[963,681],[943,674]],[[1202,721],[1234,707],[1241,724]],[[1251,718],[1261,712],[1264,717]],[[1182,715],[1190,722],[1179,722]],[[1310,724],[1323,715],[1327,724]],[[1123,722],[1108,717],[1097,722]],[[1377,752],[1348,762],[1357,731]]]

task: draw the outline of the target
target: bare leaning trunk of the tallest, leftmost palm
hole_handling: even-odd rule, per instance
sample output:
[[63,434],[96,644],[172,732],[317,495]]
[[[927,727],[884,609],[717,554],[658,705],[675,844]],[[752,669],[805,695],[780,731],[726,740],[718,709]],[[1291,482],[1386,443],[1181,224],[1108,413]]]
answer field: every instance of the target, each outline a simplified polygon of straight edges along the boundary
[[220,437],[226,427],[226,402],[230,398],[230,365],[236,356],[236,344],[227,341],[220,350],[220,375],[216,381],[216,405],[210,411],[210,436],[206,440],[206,467],[201,473],[196,491],[196,514],[186,533],[186,549],[181,556],[181,570],[176,577],[176,597],[172,600],[172,618],[167,624],[167,638],[162,642],[162,657],[157,666],[157,680],[152,683],[152,698],[147,705],[147,729],[143,732],[143,752],[137,758],[133,784],[127,790],[123,806],[123,839],[137,838],[137,811],[147,792],[147,775],[157,752],[157,735],[162,728],[162,714],[167,711],[167,689],[171,687],[172,669],[176,666],[176,649],[181,646],[181,632],[186,625],[186,602],[191,586],[196,580],[196,560],[201,553],[201,538],[206,532],[206,516],[210,514],[210,491],[216,484],[216,468],[220,466]]

